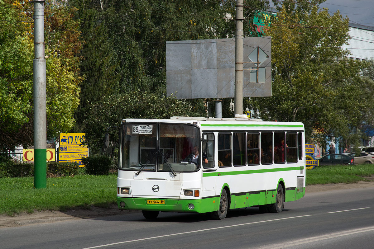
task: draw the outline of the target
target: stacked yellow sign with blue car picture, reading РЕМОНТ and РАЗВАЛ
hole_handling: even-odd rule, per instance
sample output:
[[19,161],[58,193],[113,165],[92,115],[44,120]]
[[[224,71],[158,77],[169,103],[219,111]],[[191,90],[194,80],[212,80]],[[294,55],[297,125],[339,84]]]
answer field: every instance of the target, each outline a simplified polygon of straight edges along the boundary
[[77,162],[80,167],[82,157],[88,156],[88,147],[82,145],[85,141],[85,133],[60,133],[59,162]]

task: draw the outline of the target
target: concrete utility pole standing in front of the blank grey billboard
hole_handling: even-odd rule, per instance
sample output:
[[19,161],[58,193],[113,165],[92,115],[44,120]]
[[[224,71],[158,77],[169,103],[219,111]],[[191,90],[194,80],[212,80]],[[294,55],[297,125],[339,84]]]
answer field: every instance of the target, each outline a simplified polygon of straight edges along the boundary
[[235,115],[243,114],[243,0],[236,0]]

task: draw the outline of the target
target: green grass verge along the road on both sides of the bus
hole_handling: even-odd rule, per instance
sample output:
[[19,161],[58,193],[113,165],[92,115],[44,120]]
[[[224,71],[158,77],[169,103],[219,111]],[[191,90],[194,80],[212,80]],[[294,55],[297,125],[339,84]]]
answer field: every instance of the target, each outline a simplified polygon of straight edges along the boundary
[[[306,171],[306,185],[355,183],[371,175],[371,164],[318,166]],[[91,205],[106,208],[116,203],[116,186],[117,174],[48,178],[46,189],[34,189],[33,177],[0,178],[0,214],[65,211]]]

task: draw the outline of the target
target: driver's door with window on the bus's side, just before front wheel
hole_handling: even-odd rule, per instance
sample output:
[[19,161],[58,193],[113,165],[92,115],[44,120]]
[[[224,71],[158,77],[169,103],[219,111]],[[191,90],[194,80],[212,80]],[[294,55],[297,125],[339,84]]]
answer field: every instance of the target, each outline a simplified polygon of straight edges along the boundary
[[[203,163],[203,180],[202,180],[202,191],[214,191],[215,192],[215,179],[217,169],[215,166],[214,156],[214,133],[203,133],[202,136],[202,163]],[[205,159],[208,163],[205,163]],[[207,193],[207,195],[210,195]]]

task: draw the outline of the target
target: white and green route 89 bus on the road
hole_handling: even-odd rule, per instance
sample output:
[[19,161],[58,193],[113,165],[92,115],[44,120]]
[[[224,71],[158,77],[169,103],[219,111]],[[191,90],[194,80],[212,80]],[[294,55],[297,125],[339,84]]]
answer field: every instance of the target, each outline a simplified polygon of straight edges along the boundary
[[304,125],[244,118],[123,119],[117,203],[141,210],[279,213],[305,194]]

